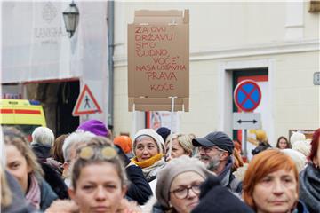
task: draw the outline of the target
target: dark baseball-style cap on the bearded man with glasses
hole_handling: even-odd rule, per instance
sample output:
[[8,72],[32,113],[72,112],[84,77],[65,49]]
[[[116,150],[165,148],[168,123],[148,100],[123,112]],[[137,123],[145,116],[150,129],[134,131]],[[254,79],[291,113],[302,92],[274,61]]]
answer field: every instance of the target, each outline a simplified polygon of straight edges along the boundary
[[192,140],[193,146],[218,146],[220,149],[233,153],[235,147],[231,138],[222,131],[214,131],[206,135],[204,138],[195,138]]

